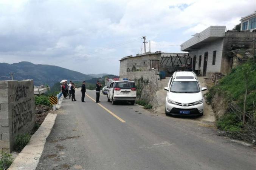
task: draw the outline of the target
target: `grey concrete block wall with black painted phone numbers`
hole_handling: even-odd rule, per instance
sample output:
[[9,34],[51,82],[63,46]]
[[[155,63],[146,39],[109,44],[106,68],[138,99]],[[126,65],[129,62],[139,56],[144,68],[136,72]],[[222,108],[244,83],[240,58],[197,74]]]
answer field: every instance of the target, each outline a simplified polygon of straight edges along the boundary
[[11,152],[17,135],[34,127],[33,80],[0,81],[0,150]]

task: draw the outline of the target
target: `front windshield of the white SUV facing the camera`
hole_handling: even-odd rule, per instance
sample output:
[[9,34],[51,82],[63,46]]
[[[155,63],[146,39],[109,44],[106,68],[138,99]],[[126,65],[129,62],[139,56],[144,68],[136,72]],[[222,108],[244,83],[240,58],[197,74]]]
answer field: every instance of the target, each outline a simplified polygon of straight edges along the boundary
[[197,81],[174,81],[170,92],[174,93],[199,93],[199,85]]

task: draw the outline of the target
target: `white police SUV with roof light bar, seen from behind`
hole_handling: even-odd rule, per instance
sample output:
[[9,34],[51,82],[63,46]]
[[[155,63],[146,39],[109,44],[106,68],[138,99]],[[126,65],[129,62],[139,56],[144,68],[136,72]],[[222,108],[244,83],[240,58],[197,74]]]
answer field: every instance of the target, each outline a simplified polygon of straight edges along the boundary
[[116,101],[128,101],[132,105],[135,103],[136,87],[134,81],[112,81],[107,88],[107,101],[111,101],[112,104],[115,104]]

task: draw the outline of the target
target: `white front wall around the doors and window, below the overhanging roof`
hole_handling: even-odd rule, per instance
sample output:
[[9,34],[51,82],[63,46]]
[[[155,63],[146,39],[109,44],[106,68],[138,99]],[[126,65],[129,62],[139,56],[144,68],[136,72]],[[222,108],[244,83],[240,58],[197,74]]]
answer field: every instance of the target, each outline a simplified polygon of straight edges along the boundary
[[[216,61],[215,65],[213,65],[213,51],[216,51]],[[205,52],[208,52],[208,60],[207,60],[207,69],[206,75],[211,75],[213,72],[221,72],[221,63],[222,63],[222,52],[223,52],[223,38],[219,40],[215,40],[211,43],[202,46],[200,49],[196,51],[191,51],[189,53],[190,57],[194,57],[196,55],[196,63],[195,69],[201,70],[203,73],[203,61],[205,57]],[[199,68],[199,56],[202,55],[201,59],[201,67]],[[192,61],[194,62],[194,61]]]

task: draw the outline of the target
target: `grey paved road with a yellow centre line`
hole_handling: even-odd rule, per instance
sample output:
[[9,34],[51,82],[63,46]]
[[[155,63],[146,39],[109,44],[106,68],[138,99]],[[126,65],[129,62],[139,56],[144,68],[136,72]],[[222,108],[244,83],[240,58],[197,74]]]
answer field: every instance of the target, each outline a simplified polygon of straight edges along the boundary
[[[95,91],[87,91],[95,99]],[[64,100],[38,170],[255,170],[256,150],[188,119],[138,106]],[[125,123],[124,123],[125,122]]]

